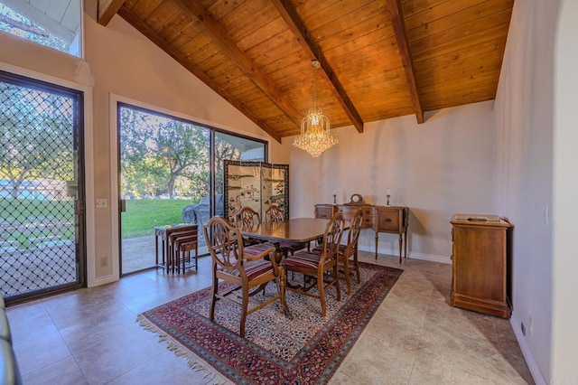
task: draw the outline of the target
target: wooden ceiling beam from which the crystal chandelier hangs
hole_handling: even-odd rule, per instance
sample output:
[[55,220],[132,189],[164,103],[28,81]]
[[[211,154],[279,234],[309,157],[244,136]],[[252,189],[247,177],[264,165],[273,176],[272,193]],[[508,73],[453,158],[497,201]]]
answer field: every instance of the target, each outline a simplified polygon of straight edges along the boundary
[[297,40],[301,43],[303,49],[306,52],[309,52],[312,55],[312,59],[317,59],[321,64],[321,68],[327,79],[330,80],[331,83],[331,90],[335,97],[339,100],[341,106],[345,110],[345,113],[350,117],[351,123],[353,126],[357,128],[359,133],[363,132],[363,120],[359,116],[358,110],[355,108],[353,103],[351,102],[350,97],[341,86],[340,80],[337,79],[335,72],[331,69],[331,65],[329,61],[325,59],[325,55],[323,55],[322,49],[317,45],[316,42],[313,42],[309,32],[305,28],[303,21],[297,14],[295,7],[291,4],[288,0],[271,0],[275,8],[281,14],[284,22],[287,23],[289,29],[294,33]]

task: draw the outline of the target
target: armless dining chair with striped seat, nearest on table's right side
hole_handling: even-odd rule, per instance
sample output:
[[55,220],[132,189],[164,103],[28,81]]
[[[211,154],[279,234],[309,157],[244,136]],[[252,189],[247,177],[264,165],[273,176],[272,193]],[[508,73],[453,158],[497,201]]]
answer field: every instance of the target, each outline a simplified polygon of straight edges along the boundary
[[[302,251],[293,256],[284,258],[282,265],[286,271],[301,273],[304,276],[312,277],[310,284],[303,286],[287,286],[305,296],[319,298],[322,303],[322,316],[326,315],[325,291],[331,286],[335,286],[337,300],[341,300],[341,290],[338,277],[339,245],[345,227],[343,214],[336,212],[327,223],[323,234],[322,253]],[[327,279],[327,281],[326,281]],[[317,286],[318,294],[311,293],[312,287]]]

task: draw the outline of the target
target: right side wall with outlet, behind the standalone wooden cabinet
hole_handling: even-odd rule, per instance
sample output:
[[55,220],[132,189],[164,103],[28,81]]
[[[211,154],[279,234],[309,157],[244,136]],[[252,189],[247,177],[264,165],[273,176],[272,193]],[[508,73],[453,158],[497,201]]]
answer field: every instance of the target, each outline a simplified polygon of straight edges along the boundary
[[515,3],[496,98],[496,208],[515,226],[510,322],[538,383],[552,376],[556,3]]

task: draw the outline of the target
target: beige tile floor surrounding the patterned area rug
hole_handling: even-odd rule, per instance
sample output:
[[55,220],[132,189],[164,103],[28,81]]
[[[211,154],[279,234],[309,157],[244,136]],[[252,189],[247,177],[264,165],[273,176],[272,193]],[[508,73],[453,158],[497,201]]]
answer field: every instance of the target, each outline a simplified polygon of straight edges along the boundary
[[[394,257],[376,262],[360,252],[360,259],[399,267]],[[533,383],[508,320],[448,305],[451,265],[406,259],[401,268],[330,383]],[[145,272],[9,307],[24,384],[210,383],[135,322],[144,310],[210,286],[210,258],[200,258],[200,272]]]

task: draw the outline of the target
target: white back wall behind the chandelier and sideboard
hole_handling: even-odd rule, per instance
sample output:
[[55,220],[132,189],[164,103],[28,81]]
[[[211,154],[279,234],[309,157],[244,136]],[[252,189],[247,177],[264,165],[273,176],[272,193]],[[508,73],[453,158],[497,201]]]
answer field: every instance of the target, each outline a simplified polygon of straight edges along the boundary
[[[291,146],[291,216],[311,217],[315,203],[350,202],[360,193],[366,202],[410,208],[409,254],[450,262],[450,220],[456,212],[491,213],[494,159],[493,102],[447,108],[415,116],[332,130],[340,143],[319,158]],[[361,249],[374,250],[374,233],[364,230]],[[397,255],[397,235],[380,234],[379,252]]]

